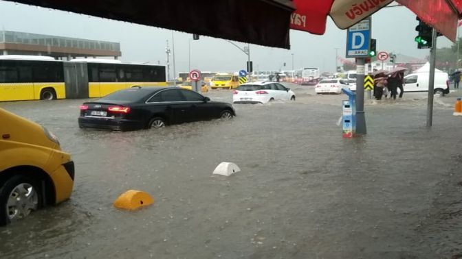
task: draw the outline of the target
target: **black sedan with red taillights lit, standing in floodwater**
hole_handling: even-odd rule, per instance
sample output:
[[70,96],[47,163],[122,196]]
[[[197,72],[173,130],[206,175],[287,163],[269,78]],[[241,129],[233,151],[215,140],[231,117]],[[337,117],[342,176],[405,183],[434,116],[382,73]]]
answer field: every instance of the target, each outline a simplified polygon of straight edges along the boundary
[[192,90],[136,87],[83,103],[78,125],[126,131],[233,116],[236,113],[230,103],[210,101]]

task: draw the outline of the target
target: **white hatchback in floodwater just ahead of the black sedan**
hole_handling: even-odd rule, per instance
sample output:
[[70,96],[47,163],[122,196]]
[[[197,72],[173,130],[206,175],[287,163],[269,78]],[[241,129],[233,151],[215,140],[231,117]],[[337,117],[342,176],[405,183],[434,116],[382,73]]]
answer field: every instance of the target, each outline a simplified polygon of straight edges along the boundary
[[295,93],[277,82],[241,84],[232,91],[232,103],[267,103],[274,100],[295,101]]

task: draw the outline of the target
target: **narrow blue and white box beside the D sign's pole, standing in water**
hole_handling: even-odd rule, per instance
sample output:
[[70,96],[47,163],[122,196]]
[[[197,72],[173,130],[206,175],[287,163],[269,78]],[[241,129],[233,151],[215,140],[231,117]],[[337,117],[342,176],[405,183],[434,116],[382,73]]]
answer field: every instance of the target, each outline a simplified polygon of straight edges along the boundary
[[356,94],[349,89],[342,89],[348,100],[342,101],[342,136],[353,138],[356,134]]

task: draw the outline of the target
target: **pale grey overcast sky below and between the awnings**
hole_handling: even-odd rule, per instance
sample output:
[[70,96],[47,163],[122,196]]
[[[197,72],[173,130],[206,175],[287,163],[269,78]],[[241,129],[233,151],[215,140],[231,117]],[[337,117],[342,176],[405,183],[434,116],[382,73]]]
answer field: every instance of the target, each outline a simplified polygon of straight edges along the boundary
[[[189,60],[191,69],[201,71],[239,71],[245,69],[247,61],[243,52],[219,38],[201,36],[200,40],[192,40],[191,34],[168,29],[36,8],[9,1],[0,1],[0,25],[1,29],[17,32],[120,42],[121,60],[152,64],[166,63],[166,40],[172,48],[173,36],[177,73],[188,71]],[[377,51],[403,53],[415,58],[429,55],[428,50],[417,49],[417,42],[413,40],[417,36],[417,21],[415,14],[407,8],[384,8],[373,14],[372,25],[373,38],[377,39]],[[250,45],[254,70],[292,70],[293,53],[294,69],[314,66],[322,72],[333,72],[336,48],[339,48],[338,56],[345,56],[346,36],[347,31],[338,29],[328,18],[327,32],[322,36],[291,30],[290,50]],[[444,37],[439,37],[438,40],[438,47],[451,44]],[[245,46],[241,42],[235,43]]]

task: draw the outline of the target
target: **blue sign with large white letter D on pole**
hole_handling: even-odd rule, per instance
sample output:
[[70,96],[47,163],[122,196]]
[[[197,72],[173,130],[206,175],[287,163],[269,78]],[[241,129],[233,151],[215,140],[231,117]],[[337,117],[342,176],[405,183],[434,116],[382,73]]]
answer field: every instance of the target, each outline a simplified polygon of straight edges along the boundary
[[347,32],[347,58],[366,58],[371,47],[371,18],[349,27]]

